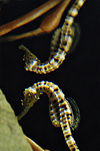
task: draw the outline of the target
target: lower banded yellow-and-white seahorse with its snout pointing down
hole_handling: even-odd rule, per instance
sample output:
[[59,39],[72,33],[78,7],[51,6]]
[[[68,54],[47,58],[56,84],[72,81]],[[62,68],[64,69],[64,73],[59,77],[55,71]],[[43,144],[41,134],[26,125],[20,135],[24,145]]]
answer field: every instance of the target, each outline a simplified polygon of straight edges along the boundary
[[[24,100],[22,101],[24,110],[18,116],[18,120],[29,111],[43,92],[49,97],[49,112],[52,124],[56,127],[62,128],[64,138],[69,149],[71,151],[79,151],[71,133],[71,128],[74,130],[74,128],[78,126],[79,120],[75,118],[77,119],[77,121],[75,121],[71,104],[75,110],[78,109],[78,107],[75,103],[70,104],[68,102],[68,99],[65,98],[64,93],[56,84],[48,81],[41,81],[35,83],[32,87],[25,89]],[[76,127],[74,122],[75,125],[77,125]]]

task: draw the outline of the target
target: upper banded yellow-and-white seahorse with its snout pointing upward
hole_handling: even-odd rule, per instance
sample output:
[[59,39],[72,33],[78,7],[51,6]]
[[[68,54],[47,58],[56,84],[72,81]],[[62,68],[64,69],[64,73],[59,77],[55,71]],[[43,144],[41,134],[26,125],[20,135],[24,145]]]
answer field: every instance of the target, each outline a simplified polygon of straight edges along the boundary
[[[74,2],[68,11],[63,26],[54,33],[50,48],[51,54],[48,61],[41,63],[24,45],[19,46],[20,49],[26,51],[24,60],[26,64],[25,69],[27,71],[33,71],[37,74],[47,74],[59,68],[73,44],[75,37],[75,28],[73,26],[74,18],[78,15],[84,2],[85,0],[76,0]],[[60,42],[60,44],[58,44],[58,42]]]

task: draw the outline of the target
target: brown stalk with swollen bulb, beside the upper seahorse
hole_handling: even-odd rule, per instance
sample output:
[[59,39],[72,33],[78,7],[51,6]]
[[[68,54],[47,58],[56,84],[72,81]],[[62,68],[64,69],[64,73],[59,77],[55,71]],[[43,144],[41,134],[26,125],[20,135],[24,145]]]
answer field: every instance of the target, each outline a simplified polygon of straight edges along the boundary
[[47,14],[45,19],[42,21],[40,27],[37,28],[36,30],[19,34],[19,35],[7,36],[7,37],[4,37],[3,39],[7,41],[14,41],[14,40],[22,39],[22,38],[36,36],[38,34],[52,32],[58,26],[61,20],[61,17],[63,15],[63,12],[69,5],[70,1],[71,0],[64,0],[63,2],[61,2],[52,13]]

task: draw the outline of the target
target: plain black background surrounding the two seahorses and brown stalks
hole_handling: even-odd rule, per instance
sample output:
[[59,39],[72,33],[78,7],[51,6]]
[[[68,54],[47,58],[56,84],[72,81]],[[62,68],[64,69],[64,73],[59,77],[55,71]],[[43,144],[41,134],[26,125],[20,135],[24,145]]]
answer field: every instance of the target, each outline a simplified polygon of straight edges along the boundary
[[[46,0],[11,0],[2,6],[0,24],[7,23],[36,8]],[[61,23],[63,24],[64,13]],[[30,31],[38,27],[43,17],[25,25],[10,34]],[[89,0],[81,8],[75,19],[80,26],[81,36],[74,52],[66,57],[60,68],[47,75],[26,72],[23,51],[18,49],[24,44],[38,58],[46,61],[49,57],[51,34],[22,39],[15,42],[0,43],[0,86],[18,115],[22,111],[20,100],[25,88],[35,82],[48,80],[57,84],[65,96],[76,100],[81,122],[73,132],[81,151],[100,150],[100,1]],[[9,35],[10,35],[9,34]],[[47,95],[41,99],[20,121],[24,133],[43,148],[52,151],[65,151],[66,144],[60,128],[55,128],[49,118]],[[68,150],[68,148],[67,148]]]

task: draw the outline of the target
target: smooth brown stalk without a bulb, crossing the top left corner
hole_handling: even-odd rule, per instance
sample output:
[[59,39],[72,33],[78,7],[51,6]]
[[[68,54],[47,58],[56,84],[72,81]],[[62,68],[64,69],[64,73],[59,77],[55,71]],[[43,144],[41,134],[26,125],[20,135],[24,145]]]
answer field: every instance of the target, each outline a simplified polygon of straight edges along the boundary
[[36,18],[43,15],[50,9],[54,8],[61,1],[62,0],[50,0],[50,1],[46,2],[45,4],[39,6],[35,10],[32,10],[31,12],[27,13],[26,15],[24,15],[16,20],[13,20],[10,23],[0,26],[0,36],[3,36],[5,34],[7,34],[8,32],[35,20]]

